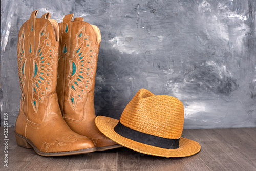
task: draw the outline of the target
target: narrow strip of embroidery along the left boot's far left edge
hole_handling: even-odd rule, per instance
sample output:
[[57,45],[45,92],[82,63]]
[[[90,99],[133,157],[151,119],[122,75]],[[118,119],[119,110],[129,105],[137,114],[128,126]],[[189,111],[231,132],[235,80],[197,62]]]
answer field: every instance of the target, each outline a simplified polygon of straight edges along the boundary
[[22,91],[22,104],[24,104],[25,100],[25,95],[24,95],[24,81],[26,79],[25,75],[25,67],[26,67],[26,54],[25,54],[25,49],[24,49],[24,39],[25,39],[25,34],[24,34],[24,28],[22,28],[22,34],[20,34],[18,38],[18,47],[17,47],[17,57],[18,57],[18,77],[19,77],[19,86],[20,86],[20,91]]

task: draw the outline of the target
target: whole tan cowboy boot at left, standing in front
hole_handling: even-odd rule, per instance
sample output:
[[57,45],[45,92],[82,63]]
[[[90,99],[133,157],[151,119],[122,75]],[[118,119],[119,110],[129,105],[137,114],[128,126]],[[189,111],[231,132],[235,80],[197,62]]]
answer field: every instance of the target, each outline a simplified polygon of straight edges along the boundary
[[16,120],[17,144],[42,156],[95,151],[93,142],[73,132],[62,118],[56,94],[58,23],[38,10],[20,28],[17,57],[22,98]]

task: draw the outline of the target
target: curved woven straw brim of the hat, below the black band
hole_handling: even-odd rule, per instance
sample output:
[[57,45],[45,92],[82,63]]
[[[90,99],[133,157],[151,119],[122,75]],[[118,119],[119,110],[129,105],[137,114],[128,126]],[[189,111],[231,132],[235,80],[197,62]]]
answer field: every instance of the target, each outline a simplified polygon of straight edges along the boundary
[[114,131],[114,127],[117,125],[118,122],[119,120],[117,119],[105,116],[97,116],[95,118],[95,123],[98,129],[105,136],[109,137],[110,139],[122,146],[133,149],[134,151],[140,153],[161,157],[186,157],[198,153],[201,149],[201,146],[198,142],[183,137],[180,138],[180,147],[177,149],[159,148],[136,142],[131,139],[125,138]]

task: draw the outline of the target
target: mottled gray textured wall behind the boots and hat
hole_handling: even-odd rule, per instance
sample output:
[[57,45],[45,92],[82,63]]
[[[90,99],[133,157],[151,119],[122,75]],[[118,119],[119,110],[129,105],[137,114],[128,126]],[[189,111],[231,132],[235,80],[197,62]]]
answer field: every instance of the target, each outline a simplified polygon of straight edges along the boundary
[[253,0],[2,0],[1,119],[14,125],[20,90],[16,43],[30,13],[74,13],[101,30],[97,115],[119,118],[140,88],[179,98],[185,128],[255,127]]

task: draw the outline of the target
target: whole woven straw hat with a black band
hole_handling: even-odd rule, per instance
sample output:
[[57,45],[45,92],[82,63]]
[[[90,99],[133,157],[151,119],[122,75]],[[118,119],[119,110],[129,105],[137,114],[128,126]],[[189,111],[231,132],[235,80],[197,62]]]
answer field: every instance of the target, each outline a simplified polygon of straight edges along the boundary
[[180,100],[140,89],[127,104],[120,120],[97,116],[98,129],[113,141],[134,151],[162,157],[196,154],[201,146],[181,137],[184,109]]

